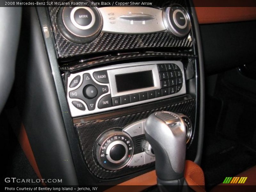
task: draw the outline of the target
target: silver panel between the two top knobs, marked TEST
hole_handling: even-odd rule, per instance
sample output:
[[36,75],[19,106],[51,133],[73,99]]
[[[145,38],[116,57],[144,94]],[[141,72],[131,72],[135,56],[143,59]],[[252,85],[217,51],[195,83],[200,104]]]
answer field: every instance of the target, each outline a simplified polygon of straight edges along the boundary
[[151,7],[100,7],[105,33],[156,33],[165,31],[162,10]]

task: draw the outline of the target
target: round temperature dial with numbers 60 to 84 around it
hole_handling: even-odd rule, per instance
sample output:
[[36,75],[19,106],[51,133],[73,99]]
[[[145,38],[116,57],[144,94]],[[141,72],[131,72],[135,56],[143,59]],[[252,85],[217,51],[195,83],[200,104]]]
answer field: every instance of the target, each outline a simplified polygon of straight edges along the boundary
[[110,130],[96,141],[94,153],[98,163],[105,169],[121,169],[132,159],[132,138],[121,129]]

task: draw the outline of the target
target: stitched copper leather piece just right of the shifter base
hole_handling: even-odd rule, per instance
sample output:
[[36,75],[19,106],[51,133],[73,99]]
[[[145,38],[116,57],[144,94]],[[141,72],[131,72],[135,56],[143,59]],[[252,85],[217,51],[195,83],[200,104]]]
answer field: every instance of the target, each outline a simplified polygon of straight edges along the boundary
[[185,164],[184,178],[190,188],[196,192],[204,192],[204,172],[199,165],[187,160]]

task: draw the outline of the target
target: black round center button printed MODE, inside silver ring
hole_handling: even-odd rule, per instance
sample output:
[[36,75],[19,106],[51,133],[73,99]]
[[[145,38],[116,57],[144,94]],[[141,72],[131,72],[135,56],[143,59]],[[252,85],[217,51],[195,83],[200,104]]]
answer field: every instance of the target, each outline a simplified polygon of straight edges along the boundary
[[75,11],[74,19],[77,24],[87,26],[92,22],[92,14],[84,8],[80,8]]

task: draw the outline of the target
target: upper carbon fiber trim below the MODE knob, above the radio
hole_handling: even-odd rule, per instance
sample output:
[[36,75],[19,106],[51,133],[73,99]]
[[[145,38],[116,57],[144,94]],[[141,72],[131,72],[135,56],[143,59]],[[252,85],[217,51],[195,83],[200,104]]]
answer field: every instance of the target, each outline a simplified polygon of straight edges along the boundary
[[[160,1],[161,2],[161,1]],[[166,2],[163,1],[166,4]],[[162,3],[162,4],[163,4]],[[65,39],[57,27],[56,17],[60,7],[48,7],[52,31],[59,58],[102,53],[110,51],[138,50],[141,48],[192,48],[191,38],[174,38],[168,32],[151,34],[110,34],[100,33],[92,42],[76,44]]]

